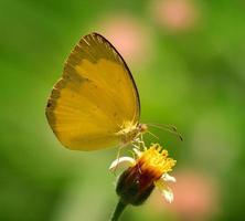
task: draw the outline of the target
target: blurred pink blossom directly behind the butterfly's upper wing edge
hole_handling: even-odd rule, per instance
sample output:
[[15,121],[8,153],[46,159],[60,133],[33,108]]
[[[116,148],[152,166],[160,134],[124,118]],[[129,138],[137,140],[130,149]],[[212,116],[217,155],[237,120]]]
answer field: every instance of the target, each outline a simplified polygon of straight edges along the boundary
[[132,14],[117,13],[100,18],[98,29],[129,63],[141,64],[150,59],[151,32]]

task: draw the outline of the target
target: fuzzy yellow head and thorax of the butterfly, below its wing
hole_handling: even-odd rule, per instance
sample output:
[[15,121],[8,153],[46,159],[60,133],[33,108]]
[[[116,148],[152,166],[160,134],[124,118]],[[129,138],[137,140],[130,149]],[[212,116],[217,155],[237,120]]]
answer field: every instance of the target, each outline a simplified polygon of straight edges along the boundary
[[118,131],[120,141],[126,145],[136,140],[141,134],[147,131],[148,127],[146,124],[131,124],[125,123],[121,130]]

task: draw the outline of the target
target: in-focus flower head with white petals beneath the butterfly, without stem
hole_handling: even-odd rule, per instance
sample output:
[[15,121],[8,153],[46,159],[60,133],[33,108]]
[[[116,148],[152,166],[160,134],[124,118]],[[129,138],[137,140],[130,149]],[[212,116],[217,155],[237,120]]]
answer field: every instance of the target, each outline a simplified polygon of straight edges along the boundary
[[168,157],[168,151],[158,144],[140,151],[134,149],[136,159],[120,157],[113,161],[109,169],[127,167],[119,176],[116,192],[125,204],[141,204],[157,187],[168,202],[173,201],[173,192],[167,186],[168,181],[175,182],[175,178],[168,172],[172,171],[175,160]]

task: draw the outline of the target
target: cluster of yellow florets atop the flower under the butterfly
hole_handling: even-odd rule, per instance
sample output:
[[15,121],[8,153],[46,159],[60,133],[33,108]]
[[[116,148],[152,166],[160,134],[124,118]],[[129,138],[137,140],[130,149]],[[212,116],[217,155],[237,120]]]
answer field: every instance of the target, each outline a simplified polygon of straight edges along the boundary
[[172,167],[177,160],[168,157],[168,150],[162,149],[158,144],[153,144],[149,149],[145,150],[137,159],[142,172],[150,172],[156,178],[160,178],[163,173],[172,171]]

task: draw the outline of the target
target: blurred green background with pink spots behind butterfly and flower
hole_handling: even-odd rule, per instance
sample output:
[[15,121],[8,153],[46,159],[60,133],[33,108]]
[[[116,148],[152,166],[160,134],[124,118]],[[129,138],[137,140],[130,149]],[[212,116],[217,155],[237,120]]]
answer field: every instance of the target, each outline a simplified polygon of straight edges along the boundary
[[153,130],[178,160],[174,202],[156,192],[121,220],[244,220],[244,11],[242,0],[0,0],[0,220],[104,221],[117,202],[117,149],[67,150],[44,116],[65,59],[92,31],[127,61],[141,122],[184,137]]

